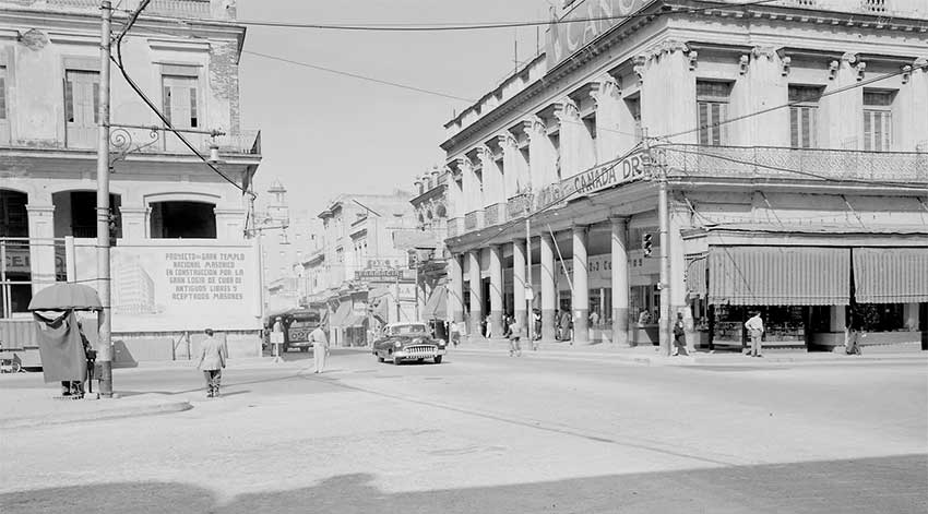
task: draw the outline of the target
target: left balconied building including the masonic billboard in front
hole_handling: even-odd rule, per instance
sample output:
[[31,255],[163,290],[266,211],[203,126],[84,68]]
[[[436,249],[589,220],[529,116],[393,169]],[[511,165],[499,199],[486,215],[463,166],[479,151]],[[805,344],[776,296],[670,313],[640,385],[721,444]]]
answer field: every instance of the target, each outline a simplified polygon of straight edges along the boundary
[[[126,22],[126,9],[138,3],[114,10],[115,31]],[[57,280],[96,286],[99,5],[0,1],[0,237],[8,320],[27,318],[32,295]],[[160,119],[112,67],[116,358],[180,358],[178,348],[189,354],[190,345],[177,340],[206,325],[227,335],[234,355],[260,348],[258,255],[246,238],[249,202],[242,190],[251,188],[261,162],[261,139],[240,125],[238,65],[246,29],[235,15],[229,0],[154,2],[121,45],[129,76],[175,128],[190,131],[186,135],[201,155],[213,150],[225,178],[163,131]],[[160,16],[195,21],[181,27]]]

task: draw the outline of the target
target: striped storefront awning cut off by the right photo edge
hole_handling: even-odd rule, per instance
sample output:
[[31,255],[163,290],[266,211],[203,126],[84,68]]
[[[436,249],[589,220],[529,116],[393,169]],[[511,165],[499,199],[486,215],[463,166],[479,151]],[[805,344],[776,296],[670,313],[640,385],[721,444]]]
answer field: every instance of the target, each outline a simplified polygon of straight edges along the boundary
[[854,248],[858,303],[928,301],[928,248]]

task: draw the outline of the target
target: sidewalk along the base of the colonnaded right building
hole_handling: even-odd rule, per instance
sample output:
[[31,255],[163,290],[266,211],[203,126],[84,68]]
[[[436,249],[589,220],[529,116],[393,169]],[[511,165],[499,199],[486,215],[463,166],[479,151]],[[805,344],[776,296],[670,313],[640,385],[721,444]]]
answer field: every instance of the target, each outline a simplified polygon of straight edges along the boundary
[[[502,338],[464,338],[461,345],[450,348],[450,352],[472,352],[508,355],[509,340]],[[849,356],[843,352],[808,352],[795,349],[770,349],[762,359],[753,359],[740,351],[704,350],[691,351],[689,356],[666,357],[655,346],[619,346],[610,343],[574,344],[569,342],[540,340],[538,351],[532,350],[532,342],[522,342],[522,354],[539,358],[567,358],[582,360],[603,360],[630,362],[643,366],[743,366],[746,363],[849,363],[849,362],[924,362],[928,363],[928,351],[918,345],[885,345],[864,347],[862,356]]]

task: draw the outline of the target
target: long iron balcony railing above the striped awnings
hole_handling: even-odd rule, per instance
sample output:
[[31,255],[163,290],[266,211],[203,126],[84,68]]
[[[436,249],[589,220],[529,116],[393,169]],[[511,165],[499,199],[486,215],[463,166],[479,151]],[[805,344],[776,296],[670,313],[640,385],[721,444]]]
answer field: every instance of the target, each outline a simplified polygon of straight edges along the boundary
[[928,183],[928,153],[920,152],[668,145],[661,153],[671,175]]

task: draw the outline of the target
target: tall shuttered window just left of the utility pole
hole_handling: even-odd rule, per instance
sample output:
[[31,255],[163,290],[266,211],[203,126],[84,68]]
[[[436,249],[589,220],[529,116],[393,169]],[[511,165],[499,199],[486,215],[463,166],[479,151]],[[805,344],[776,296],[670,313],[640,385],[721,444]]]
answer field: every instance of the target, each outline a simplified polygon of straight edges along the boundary
[[99,72],[64,71],[64,125],[69,148],[92,148],[97,144],[99,122]]

